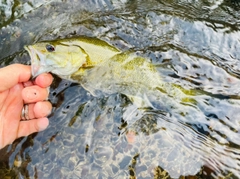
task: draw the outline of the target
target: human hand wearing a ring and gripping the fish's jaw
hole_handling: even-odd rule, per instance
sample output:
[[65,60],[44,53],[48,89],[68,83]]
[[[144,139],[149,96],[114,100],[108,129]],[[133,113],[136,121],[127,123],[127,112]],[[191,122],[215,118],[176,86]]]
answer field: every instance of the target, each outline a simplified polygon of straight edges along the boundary
[[[46,116],[51,113],[52,105],[46,98],[53,78],[48,73],[34,81],[30,77],[31,67],[27,65],[0,68],[0,149],[19,137],[46,129],[49,124]],[[28,120],[22,120],[26,105]]]

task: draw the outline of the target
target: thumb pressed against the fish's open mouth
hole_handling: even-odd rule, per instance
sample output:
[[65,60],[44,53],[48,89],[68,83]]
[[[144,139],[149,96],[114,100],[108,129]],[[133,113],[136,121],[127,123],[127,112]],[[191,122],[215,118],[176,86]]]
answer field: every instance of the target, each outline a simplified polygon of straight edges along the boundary
[[0,92],[5,91],[15,84],[26,82],[31,77],[31,67],[21,64],[13,64],[0,69]]

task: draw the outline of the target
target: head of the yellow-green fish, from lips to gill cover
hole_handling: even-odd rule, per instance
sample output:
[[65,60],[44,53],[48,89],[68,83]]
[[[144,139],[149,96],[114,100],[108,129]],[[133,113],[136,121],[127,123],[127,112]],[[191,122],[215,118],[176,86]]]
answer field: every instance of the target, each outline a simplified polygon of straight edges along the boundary
[[87,61],[88,55],[77,45],[64,41],[40,42],[25,46],[31,57],[32,76],[52,72],[69,79]]

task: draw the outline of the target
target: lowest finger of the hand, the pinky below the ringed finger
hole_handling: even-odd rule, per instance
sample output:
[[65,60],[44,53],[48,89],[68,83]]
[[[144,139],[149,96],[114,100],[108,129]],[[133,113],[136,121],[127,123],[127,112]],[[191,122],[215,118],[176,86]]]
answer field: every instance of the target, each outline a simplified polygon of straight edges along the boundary
[[40,132],[49,125],[48,118],[39,118],[29,121],[21,121],[18,128],[18,137],[28,136],[34,132]]

